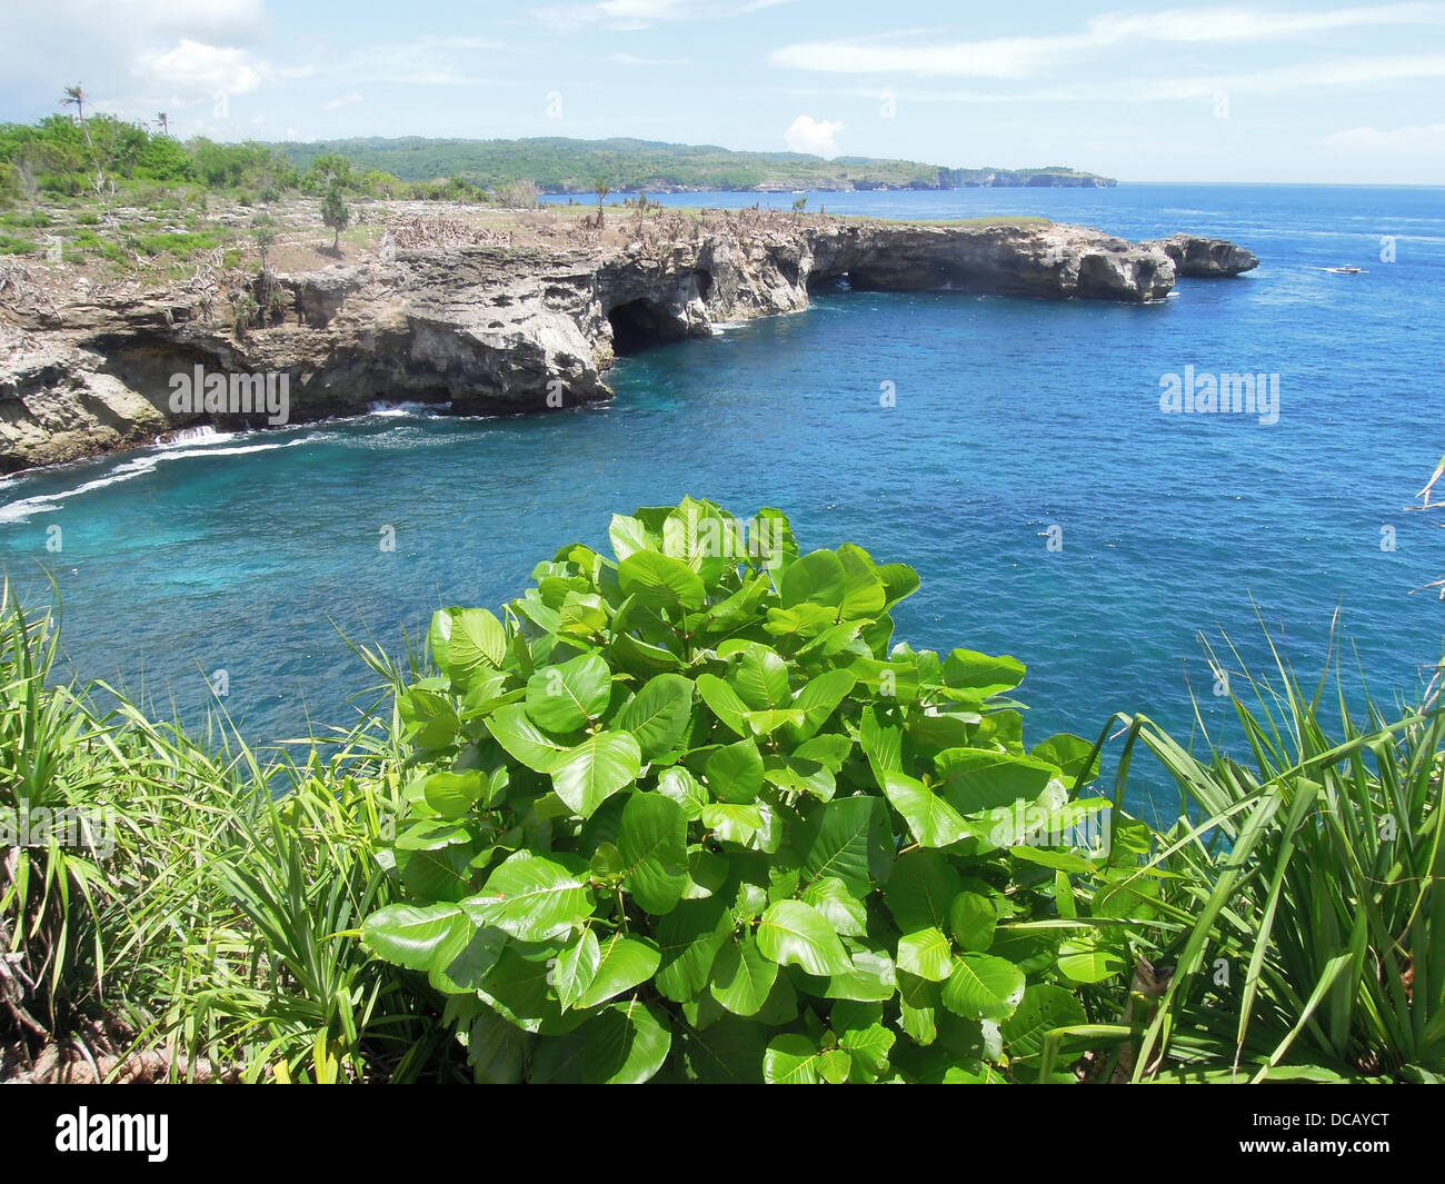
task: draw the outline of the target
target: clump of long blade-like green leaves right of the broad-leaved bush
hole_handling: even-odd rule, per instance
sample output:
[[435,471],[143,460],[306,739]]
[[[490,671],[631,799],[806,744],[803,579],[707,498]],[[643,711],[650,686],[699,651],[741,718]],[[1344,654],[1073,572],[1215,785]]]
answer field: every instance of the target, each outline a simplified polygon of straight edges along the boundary
[[[1243,666],[1243,659],[1233,655]],[[1178,973],[1134,1077],[1445,1077],[1445,710],[1351,711],[1335,677],[1314,694],[1276,652],[1277,681],[1231,695],[1247,756],[1199,759],[1136,717],[1185,810],[1147,865],[1147,918]],[[1211,652],[1217,669],[1221,661]],[[1199,729],[1208,736],[1202,716]],[[1140,919],[1146,919],[1140,915]]]

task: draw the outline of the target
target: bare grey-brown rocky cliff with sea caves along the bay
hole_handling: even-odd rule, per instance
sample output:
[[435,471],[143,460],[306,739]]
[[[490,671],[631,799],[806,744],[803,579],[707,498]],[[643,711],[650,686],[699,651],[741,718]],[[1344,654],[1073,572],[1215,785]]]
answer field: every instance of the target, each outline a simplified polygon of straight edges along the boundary
[[[1163,299],[1178,275],[1257,266],[1221,240],[1130,243],[1074,226],[920,226],[744,214],[620,247],[474,241],[379,250],[251,280],[263,324],[238,327],[185,285],[52,302],[0,292],[0,473],[262,415],[173,409],[173,377],[282,374],[288,422],[381,399],[454,413],[545,411],[611,396],[620,353],[717,322],[798,312],[809,291],[958,291]],[[233,385],[234,389],[234,385]]]

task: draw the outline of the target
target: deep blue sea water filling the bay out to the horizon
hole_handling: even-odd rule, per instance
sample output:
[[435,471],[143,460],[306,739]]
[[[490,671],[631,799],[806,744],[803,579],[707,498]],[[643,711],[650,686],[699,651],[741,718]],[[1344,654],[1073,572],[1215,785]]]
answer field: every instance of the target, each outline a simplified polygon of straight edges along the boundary
[[[751,204],[756,195],[670,198]],[[779,195],[775,204],[790,204]],[[1126,185],[816,194],[837,213],[1040,213],[1129,237],[1220,234],[1263,263],[1155,306],[829,293],[801,315],[624,360],[604,408],[370,416],[194,441],[0,483],[0,567],[51,570],[78,671],[197,718],[205,675],[251,739],[348,724],[373,681],[337,629],[399,649],[438,604],[517,594],[564,542],[685,493],[776,506],[805,546],[913,564],[899,639],[1029,665],[1029,734],[1111,711],[1188,732],[1198,635],[1318,674],[1331,617],[1376,691],[1439,658],[1445,536],[1405,513],[1441,452],[1445,191]],[[1381,236],[1397,262],[1380,262]],[[1355,276],[1325,266],[1366,267]],[[1279,422],[1166,415],[1160,376],[1279,374]],[[881,383],[897,405],[880,408]],[[64,551],[48,552],[59,526]],[[396,551],[381,552],[383,526]],[[1046,548],[1052,526],[1062,549]],[[1381,549],[1393,526],[1397,549]]]

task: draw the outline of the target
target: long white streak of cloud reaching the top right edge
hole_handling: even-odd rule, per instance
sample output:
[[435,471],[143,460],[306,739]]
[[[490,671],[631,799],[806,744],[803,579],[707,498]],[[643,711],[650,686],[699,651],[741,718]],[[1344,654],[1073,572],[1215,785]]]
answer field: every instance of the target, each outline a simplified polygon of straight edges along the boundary
[[1220,43],[1279,40],[1370,26],[1445,25],[1445,4],[1374,4],[1327,12],[1173,9],[1105,13],[1078,33],[939,43],[897,38],[814,40],[775,49],[770,62],[831,74],[920,74],[959,78],[1029,78],[1130,42]]

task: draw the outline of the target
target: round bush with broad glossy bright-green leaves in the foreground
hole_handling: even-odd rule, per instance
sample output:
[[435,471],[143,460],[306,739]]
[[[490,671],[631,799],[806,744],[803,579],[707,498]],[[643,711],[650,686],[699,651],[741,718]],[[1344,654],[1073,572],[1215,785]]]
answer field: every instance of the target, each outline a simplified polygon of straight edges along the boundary
[[1045,1034],[1123,963],[1069,876],[1108,857],[1014,820],[1095,815],[1090,745],[1025,749],[1012,658],[890,649],[912,568],[691,499],[610,535],[506,623],[438,613],[397,700],[403,895],[363,940],[478,1080],[1072,1080]]

